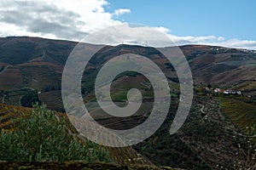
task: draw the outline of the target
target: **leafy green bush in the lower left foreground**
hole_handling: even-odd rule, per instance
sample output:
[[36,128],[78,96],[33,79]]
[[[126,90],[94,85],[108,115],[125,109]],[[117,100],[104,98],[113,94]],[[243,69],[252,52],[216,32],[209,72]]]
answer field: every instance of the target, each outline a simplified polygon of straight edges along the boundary
[[106,161],[108,150],[68,133],[66,123],[57,122],[54,111],[35,105],[28,119],[17,121],[14,132],[1,132],[0,160],[3,161]]

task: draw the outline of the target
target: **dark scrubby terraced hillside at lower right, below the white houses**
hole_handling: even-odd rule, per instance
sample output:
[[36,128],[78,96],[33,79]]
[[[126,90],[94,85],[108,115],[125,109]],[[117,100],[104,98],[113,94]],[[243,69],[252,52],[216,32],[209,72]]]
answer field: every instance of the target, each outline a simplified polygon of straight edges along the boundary
[[[171,110],[164,125],[145,142],[137,144],[136,149],[156,165],[175,165],[189,169],[233,169],[238,166],[237,162],[241,162],[245,169],[249,162],[253,169],[252,165],[256,165],[253,159],[256,144],[252,145],[253,149],[247,144],[247,140],[253,138],[247,138],[246,133],[241,134],[241,129],[221,112],[220,106],[216,99],[196,96],[189,117],[176,134],[168,134],[173,117]],[[253,154],[248,150],[251,153],[253,151]]]

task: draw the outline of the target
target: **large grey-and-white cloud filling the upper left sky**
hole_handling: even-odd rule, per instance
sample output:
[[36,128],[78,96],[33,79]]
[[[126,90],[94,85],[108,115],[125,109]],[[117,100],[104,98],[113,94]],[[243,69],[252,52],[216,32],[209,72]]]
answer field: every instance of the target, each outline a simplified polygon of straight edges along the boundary
[[0,1],[0,36],[81,40],[91,31],[121,24],[105,12],[105,0]]

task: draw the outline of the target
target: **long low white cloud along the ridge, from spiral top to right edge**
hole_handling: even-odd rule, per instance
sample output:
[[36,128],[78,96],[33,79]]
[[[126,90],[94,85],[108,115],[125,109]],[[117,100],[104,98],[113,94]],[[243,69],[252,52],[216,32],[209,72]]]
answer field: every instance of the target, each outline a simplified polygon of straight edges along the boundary
[[178,37],[169,33],[164,27],[140,25],[120,25],[114,29],[103,29],[87,37],[84,42],[117,45],[119,43],[136,44],[152,47],[168,47],[186,44],[222,46],[226,48],[256,49],[256,41],[238,39],[225,40],[224,37]]

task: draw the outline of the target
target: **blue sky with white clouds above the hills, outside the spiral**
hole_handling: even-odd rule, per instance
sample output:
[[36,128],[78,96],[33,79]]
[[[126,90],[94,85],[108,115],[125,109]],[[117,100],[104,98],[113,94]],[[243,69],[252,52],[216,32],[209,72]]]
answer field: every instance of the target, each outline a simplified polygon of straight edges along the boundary
[[124,23],[151,26],[177,45],[256,50],[255,0],[1,0],[0,37],[81,41]]

